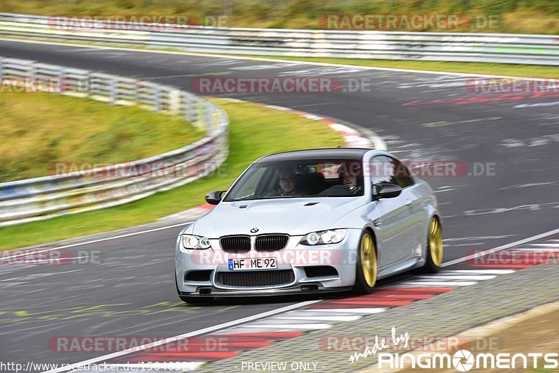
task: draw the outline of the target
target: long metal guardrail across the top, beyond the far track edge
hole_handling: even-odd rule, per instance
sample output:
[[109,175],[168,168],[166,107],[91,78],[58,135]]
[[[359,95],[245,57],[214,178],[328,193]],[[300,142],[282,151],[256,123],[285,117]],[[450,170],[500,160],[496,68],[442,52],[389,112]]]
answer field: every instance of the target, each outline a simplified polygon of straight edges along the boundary
[[55,17],[0,13],[3,36],[224,54],[559,65],[559,41],[552,35],[215,27],[173,30],[169,25],[163,30],[134,31],[126,27],[126,22],[89,29],[61,24],[57,25]]

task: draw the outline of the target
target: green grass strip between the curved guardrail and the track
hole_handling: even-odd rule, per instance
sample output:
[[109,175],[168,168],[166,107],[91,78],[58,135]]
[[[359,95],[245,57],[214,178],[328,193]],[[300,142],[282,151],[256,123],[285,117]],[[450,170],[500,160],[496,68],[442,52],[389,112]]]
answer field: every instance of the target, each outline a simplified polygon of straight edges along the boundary
[[286,150],[336,147],[340,135],[326,124],[252,103],[216,100],[230,119],[230,155],[209,177],[127,205],[0,228],[0,249],[24,247],[154,221],[204,203],[205,193],[226,189],[259,156]]

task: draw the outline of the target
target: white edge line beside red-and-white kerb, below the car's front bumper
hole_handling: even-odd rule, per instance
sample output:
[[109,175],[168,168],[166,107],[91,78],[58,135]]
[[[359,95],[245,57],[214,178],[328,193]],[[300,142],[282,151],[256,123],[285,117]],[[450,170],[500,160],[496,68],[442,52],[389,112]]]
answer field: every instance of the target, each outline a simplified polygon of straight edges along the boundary
[[[126,354],[131,353],[131,352],[143,351],[145,349],[151,349],[152,347],[161,346],[162,344],[167,344],[169,342],[175,342],[177,340],[186,339],[186,338],[189,338],[189,337],[196,337],[197,335],[207,334],[209,332],[214,332],[215,330],[228,328],[230,326],[239,326],[239,324],[241,324],[241,323],[248,323],[250,321],[263,319],[264,317],[273,316],[273,315],[276,315],[276,314],[281,314],[282,312],[291,311],[291,309],[296,309],[296,308],[299,308],[299,307],[305,307],[305,306],[312,305],[312,304],[317,303],[317,302],[321,302],[321,300],[307,300],[306,302],[299,302],[299,303],[296,303],[294,305],[289,305],[289,306],[286,306],[286,307],[273,309],[271,311],[262,312],[261,314],[247,316],[247,317],[244,317],[244,318],[239,319],[239,320],[228,321],[226,323],[222,323],[222,324],[219,324],[219,325],[216,325],[216,326],[210,326],[208,328],[195,330],[194,332],[187,332],[187,333],[184,333],[184,334],[181,334],[181,335],[177,335],[176,337],[161,339],[159,341],[148,343],[148,344],[143,344],[141,346],[133,347],[131,349],[126,349],[126,350],[123,350],[123,351],[117,351],[117,352],[109,353],[107,355],[98,356],[96,358],[92,358],[92,359],[89,359],[89,360],[84,360],[80,363],[74,363],[74,364],[71,364],[71,365],[67,365],[65,367],[59,367],[57,369],[48,370],[48,371],[45,371],[43,373],[67,372],[68,370],[75,369],[75,367],[80,367],[80,366],[87,365],[87,364],[99,363],[101,361],[112,359],[112,358],[117,358],[119,356],[123,356],[123,355],[126,355]],[[328,324],[315,324],[315,325],[324,326],[324,325],[328,325]],[[328,326],[328,328],[329,327],[330,326]]]

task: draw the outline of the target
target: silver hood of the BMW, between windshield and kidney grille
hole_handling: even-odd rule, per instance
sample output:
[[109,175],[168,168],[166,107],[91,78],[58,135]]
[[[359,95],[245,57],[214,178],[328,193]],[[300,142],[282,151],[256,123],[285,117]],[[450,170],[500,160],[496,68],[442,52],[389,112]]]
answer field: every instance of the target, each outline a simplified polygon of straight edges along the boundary
[[[286,233],[305,235],[329,228],[348,212],[366,203],[365,198],[281,198],[219,203],[211,212],[198,219],[193,234],[208,238],[224,235],[261,235]],[[258,228],[257,233],[251,233]]]

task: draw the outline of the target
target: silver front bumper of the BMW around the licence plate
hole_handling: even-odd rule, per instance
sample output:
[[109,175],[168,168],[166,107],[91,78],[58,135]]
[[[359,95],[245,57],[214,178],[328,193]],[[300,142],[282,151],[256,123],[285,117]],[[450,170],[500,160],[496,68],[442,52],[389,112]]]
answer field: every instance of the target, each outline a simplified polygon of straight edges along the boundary
[[[309,247],[299,244],[301,236],[291,236],[286,247],[279,251],[251,251],[244,254],[228,254],[219,246],[219,240],[210,240],[211,249],[189,250],[182,248],[177,240],[175,254],[175,278],[177,291],[183,296],[247,296],[310,294],[347,291],[355,284],[356,254],[361,230],[348,229],[347,236],[338,244]],[[277,268],[273,270],[235,270],[228,268],[230,258],[275,257]],[[317,268],[328,267],[328,274],[316,273]],[[250,272],[254,275],[273,276],[273,271],[292,271],[289,281],[268,286],[236,286],[220,281],[224,272]],[[314,270],[314,271],[313,271]],[[187,279],[191,272],[202,273],[204,279]],[[220,276],[220,272],[222,275]],[[257,273],[261,272],[261,273]],[[266,272],[266,273],[263,273]],[[313,273],[314,272],[314,273]]]

